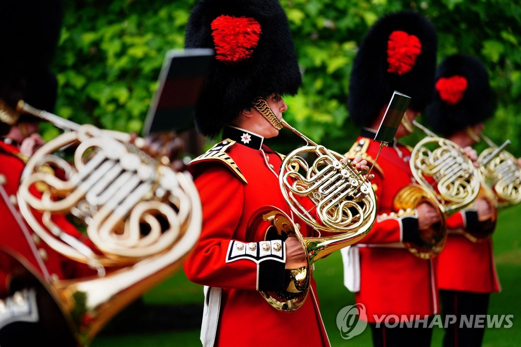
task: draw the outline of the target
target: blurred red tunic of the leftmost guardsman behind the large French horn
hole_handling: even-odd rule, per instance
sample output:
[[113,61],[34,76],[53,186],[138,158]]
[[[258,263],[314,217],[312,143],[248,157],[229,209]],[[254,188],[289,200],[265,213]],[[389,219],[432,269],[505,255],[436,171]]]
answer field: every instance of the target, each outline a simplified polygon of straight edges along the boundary
[[[23,221],[18,212],[16,192],[20,176],[25,166],[18,148],[0,142],[0,247],[2,251],[15,256],[19,262],[30,266],[44,280],[83,277],[94,271],[83,264],[58,254],[40,240]],[[39,216],[36,216],[39,218]],[[73,236],[79,232],[65,218],[53,219],[63,230]],[[0,253],[0,296],[9,292],[12,269],[10,258]]]

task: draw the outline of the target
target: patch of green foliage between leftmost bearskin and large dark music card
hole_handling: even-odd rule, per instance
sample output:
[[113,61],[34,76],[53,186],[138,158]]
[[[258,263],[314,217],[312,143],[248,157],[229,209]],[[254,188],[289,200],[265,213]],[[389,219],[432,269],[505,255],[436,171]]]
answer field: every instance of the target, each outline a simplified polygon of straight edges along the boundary
[[55,59],[56,112],[79,123],[139,132],[166,51],[183,46],[191,3],[68,2]]

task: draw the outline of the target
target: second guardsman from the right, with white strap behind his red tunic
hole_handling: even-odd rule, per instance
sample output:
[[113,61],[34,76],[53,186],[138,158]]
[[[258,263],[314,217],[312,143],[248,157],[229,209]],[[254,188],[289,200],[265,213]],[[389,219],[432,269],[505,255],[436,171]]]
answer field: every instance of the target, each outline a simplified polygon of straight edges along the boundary
[[[394,142],[382,148],[373,170],[375,226],[360,243],[342,251],[345,284],[365,305],[375,346],[430,345],[428,326],[439,313],[436,262],[414,255],[406,245],[420,243],[420,233],[439,225],[441,215],[430,203],[403,214],[393,209],[398,192],[414,182],[411,148],[398,141],[413,131],[411,121],[431,100],[436,51],[437,34],[429,20],[412,11],[393,13],[369,29],[351,71],[349,114],[362,129],[346,156],[362,155],[373,163],[380,147],[373,139],[393,92],[411,97]],[[397,326],[386,327],[386,317]]]

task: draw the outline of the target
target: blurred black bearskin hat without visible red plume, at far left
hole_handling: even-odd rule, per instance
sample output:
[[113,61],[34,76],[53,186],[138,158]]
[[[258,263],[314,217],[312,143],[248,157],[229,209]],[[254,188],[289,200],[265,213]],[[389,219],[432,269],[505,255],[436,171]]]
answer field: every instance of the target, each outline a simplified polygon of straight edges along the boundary
[[[56,102],[56,77],[49,70],[61,31],[60,0],[5,0],[0,2],[0,100],[8,113],[0,117],[7,125],[18,121],[13,111],[20,99],[52,111]],[[22,116],[21,120],[29,120]],[[6,122],[6,123],[4,123]]]

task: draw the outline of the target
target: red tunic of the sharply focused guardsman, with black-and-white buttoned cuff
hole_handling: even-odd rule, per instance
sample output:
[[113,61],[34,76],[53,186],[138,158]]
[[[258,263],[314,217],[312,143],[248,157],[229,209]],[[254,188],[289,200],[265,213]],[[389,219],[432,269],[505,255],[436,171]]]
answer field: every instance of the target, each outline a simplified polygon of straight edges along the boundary
[[[261,232],[246,239],[247,222],[258,207],[276,206],[291,216],[279,188],[281,157],[246,130],[227,127],[223,138],[190,165],[203,206],[203,229],[184,263],[191,281],[221,288],[218,321],[206,323],[217,326],[215,344],[329,345],[314,281],[301,308],[280,312],[258,290],[282,285],[285,253],[245,251],[249,247],[244,243],[256,242],[258,250],[258,241],[265,239]],[[299,223],[303,236],[309,236]]]

